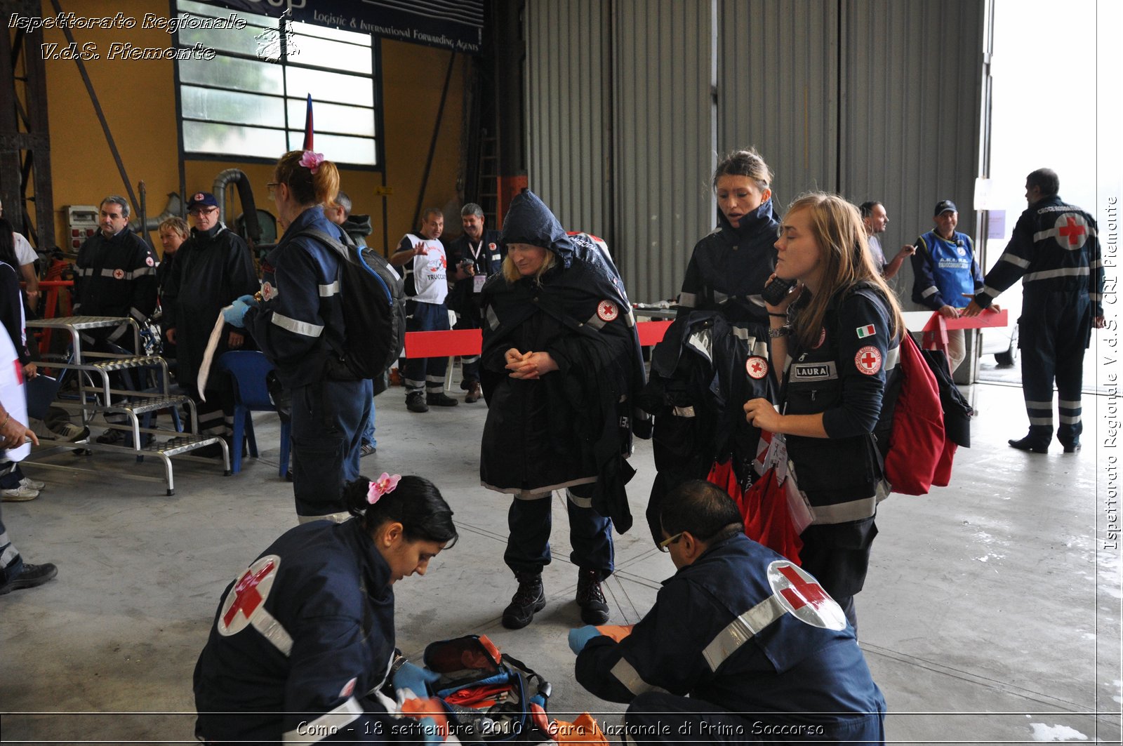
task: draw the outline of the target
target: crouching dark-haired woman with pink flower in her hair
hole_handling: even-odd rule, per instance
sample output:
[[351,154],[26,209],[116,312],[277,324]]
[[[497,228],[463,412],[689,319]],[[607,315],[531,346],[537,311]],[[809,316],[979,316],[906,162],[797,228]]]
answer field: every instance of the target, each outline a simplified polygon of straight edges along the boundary
[[344,499],[354,518],[290,529],[227,586],[195,665],[200,738],[427,740],[436,724],[400,703],[436,674],[394,647],[394,583],[456,543],[453,510],[429,480],[389,473]]

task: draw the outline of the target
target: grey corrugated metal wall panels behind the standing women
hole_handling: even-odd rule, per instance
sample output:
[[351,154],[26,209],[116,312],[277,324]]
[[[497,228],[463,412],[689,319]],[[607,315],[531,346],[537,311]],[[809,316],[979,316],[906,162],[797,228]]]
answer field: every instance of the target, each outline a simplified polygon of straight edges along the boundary
[[[715,225],[716,157],[740,147],[772,166],[779,210],[813,189],[883,201],[892,251],[952,199],[974,235],[987,1],[528,3],[530,188],[567,227],[610,239],[638,302],[678,292]],[[582,67],[606,75],[566,75]],[[559,104],[602,107],[606,134],[559,128]],[[563,188],[575,162],[592,173]],[[584,192],[605,184],[614,210],[591,210]],[[911,269],[898,278],[907,300]]]

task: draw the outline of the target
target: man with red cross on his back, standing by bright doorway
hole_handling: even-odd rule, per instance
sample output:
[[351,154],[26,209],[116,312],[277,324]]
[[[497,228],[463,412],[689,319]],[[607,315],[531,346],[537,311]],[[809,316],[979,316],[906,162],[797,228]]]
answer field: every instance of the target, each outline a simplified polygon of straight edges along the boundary
[[983,290],[964,311],[978,316],[1022,279],[1017,346],[1030,431],[1011,439],[1010,446],[1032,453],[1047,453],[1052,440],[1053,380],[1060,416],[1057,439],[1065,453],[1080,449],[1084,352],[1093,327],[1104,327],[1104,266],[1096,221],[1062,201],[1059,191],[1060,179],[1051,169],[1038,169],[1025,178],[1029,208],[1017,219],[1006,251],[987,272]]

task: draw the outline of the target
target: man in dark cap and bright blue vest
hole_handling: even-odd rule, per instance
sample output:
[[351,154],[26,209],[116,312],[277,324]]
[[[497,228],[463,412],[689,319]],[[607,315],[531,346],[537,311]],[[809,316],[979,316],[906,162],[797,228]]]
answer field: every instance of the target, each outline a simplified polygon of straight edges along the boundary
[[[983,288],[983,273],[975,261],[970,236],[956,230],[959,209],[951,200],[940,200],[932,213],[934,230],[916,239],[913,254],[913,302],[949,319]],[[966,356],[962,329],[948,329],[948,365],[955,373]]]

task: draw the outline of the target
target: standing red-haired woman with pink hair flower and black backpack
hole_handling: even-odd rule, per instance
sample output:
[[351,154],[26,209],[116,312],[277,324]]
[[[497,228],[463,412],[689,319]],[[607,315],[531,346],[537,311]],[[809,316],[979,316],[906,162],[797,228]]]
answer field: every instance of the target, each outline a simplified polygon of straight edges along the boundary
[[244,295],[223,315],[244,326],[292,397],[292,489],[301,521],[349,517],[343,486],[358,477],[363,428],[374,390],[344,362],[347,322],[341,256],[323,204],[339,193],[336,164],[312,151],[277,161],[270,194],[284,235],[262,263],[259,300]]

